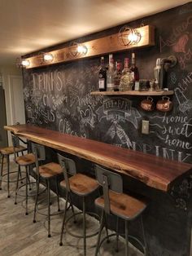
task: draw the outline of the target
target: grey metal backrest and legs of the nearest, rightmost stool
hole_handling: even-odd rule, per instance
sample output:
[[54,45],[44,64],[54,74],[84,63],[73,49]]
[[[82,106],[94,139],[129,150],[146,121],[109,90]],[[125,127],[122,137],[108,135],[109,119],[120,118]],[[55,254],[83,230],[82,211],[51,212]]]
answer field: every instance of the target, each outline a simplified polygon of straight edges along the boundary
[[[116,251],[119,250],[118,248],[118,241],[119,241],[119,218],[123,218],[123,216],[116,214],[117,217],[117,223],[116,223],[116,233],[113,233],[111,235],[105,236],[102,241],[101,240],[101,234],[103,231],[103,227],[107,224],[107,214],[111,213],[111,207],[110,207],[110,198],[109,198],[109,190],[117,192],[117,193],[123,193],[123,182],[122,177],[120,174],[116,174],[115,172],[112,172],[110,170],[106,170],[101,166],[95,165],[95,173],[96,173],[96,179],[98,180],[98,183],[103,187],[103,198],[104,198],[104,208],[102,207],[102,216],[100,221],[100,227],[98,232],[98,242],[96,245],[95,250],[95,256],[98,255],[99,249],[104,241],[108,241],[109,237],[116,236]],[[114,215],[114,214],[113,214]],[[137,218],[140,215],[140,221],[141,221],[141,227],[142,227],[142,236],[144,245],[141,241],[137,239],[135,236],[129,235],[129,222],[133,219]],[[144,255],[146,255],[146,236],[144,232],[143,222],[142,222],[142,212],[138,212],[134,218],[123,218],[124,219],[124,244],[125,244],[125,256],[129,256],[129,237],[133,240],[137,241],[137,243],[142,246]]]

